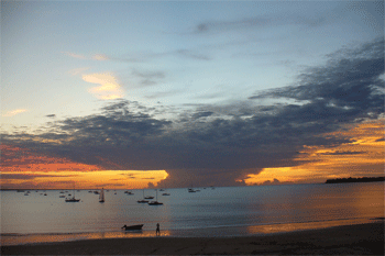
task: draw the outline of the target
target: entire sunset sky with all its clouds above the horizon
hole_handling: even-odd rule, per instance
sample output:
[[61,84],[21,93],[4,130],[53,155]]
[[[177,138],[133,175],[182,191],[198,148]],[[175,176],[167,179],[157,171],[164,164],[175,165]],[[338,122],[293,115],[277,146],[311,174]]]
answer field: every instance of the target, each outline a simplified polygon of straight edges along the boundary
[[384,174],[383,1],[1,1],[1,187]]

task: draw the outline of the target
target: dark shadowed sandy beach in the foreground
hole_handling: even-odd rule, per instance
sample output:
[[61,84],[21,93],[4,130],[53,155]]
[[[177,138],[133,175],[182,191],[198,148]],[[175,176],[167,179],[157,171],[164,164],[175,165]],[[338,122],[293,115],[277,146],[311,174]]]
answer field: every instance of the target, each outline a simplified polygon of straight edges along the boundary
[[242,237],[143,237],[2,246],[2,255],[384,255],[384,222]]

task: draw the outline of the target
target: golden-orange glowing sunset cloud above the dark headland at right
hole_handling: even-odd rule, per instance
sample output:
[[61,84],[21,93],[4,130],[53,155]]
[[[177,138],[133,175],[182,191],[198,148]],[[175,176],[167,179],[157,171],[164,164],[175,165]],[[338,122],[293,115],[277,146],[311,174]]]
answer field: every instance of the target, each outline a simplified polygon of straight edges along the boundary
[[266,180],[280,182],[324,182],[330,178],[365,177],[384,175],[384,124],[370,122],[359,124],[333,136],[350,137],[351,142],[337,147],[307,147],[295,159],[306,164],[294,167],[264,168],[250,174],[248,185],[262,185]]

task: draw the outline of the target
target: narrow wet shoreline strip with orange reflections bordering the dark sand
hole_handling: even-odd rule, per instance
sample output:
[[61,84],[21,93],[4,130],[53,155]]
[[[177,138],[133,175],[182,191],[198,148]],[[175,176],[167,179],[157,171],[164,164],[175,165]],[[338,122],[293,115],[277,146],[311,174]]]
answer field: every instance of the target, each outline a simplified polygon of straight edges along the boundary
[[[306,230],[318,230],[333,226],[354,225],[384,221],[384,218],[341,219],[316,222],[275,223],[242,226],[217,226],[188,230],[162,230],[162,236],[166,237],[244,237],[263,236]],[[81,233],[42,233],[42,234],[1,234],[1,245],[37,245],[46,243],[61,243],[106,238],[143,238],[154,237],[155,230],[141,231],[105,231]]]

